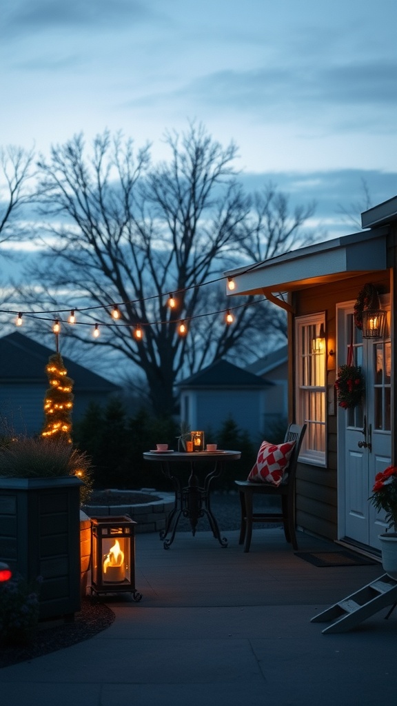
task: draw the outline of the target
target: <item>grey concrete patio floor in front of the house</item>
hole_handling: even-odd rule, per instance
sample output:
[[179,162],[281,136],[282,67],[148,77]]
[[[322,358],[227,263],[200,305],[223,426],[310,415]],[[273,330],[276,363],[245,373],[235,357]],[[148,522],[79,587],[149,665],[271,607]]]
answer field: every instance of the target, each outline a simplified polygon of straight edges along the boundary
[[[378,578],[380,564],[316,568],[278,528],[251,551],[225,532],[136,537],[136,588],[107,597],[116,614],[95,638],[0,670],[17,706],[375,706],[396,698],[397,610],[346,633],[311,618]],[[336,546],[298,535],[301,551]]]

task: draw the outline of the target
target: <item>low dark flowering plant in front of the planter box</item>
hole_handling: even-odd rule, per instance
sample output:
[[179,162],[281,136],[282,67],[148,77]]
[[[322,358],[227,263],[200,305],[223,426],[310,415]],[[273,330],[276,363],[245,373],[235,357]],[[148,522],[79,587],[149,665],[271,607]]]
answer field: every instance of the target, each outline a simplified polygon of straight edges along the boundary
[[24,645],[32,640],[39,621],[42,577],[33,584],[16,575],[0,583],[0,643]]

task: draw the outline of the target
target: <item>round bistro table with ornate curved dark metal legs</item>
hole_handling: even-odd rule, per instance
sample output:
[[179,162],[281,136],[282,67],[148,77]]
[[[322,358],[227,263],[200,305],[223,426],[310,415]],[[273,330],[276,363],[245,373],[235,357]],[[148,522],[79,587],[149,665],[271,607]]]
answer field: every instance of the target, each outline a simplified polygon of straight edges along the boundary
[[[223,473],[225,463],[229,461],[238,461],[241,457],[240,451],[146,451],[143,458],[146,461],[155,461],[161,464],[162,474],[172,481],[175,491],[174,507],[167,516],[165,529],[160,532],[160,539],[164,540],[164,549],[170,549],[174,542],[175,532],[179,517],[189,517],[191,531],[196,534],[197,522],[200,517],[206,515],[210,523],[211,530],[215,539],[218,539],[220,546],[227,546],[227,539],[220,536],[218,522],[211,510],[211,485],[215,478],[219,478]],[[198,465],[208,465],[208,462],[213,463],[213,470],[206,474],[202,486],[198,484],[196,468]],[[179,477],[179,467],[182,464],[189,465],[190,475],[187,485],[184,486]],[[167,535],[170,537],[167,538]]]

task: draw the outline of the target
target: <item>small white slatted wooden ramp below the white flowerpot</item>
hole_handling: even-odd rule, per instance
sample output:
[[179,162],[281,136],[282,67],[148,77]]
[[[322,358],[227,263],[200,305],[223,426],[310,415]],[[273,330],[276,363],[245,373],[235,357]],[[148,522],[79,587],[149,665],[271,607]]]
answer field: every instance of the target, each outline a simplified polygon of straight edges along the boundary
[[[324,628],[323,633],[344,633],[382,608],[391,605],[394,607],[396,604],[397,581],[389,574],[384,574],[323,613],[314,616],[310,622],[331,622],[328,628]],[[386,617],[389,617],[390,613],[391,611]]]

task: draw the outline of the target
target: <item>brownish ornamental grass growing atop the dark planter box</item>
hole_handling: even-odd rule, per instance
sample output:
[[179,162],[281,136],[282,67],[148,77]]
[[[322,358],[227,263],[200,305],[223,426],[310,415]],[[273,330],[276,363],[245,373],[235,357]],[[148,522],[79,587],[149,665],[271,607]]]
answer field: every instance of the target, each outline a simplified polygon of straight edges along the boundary
[[59,478],[78,476],[84,486],[81,502],[92,491],[92,470],[88,455],[63,438],[8,436],[0,438],[0,477]]

